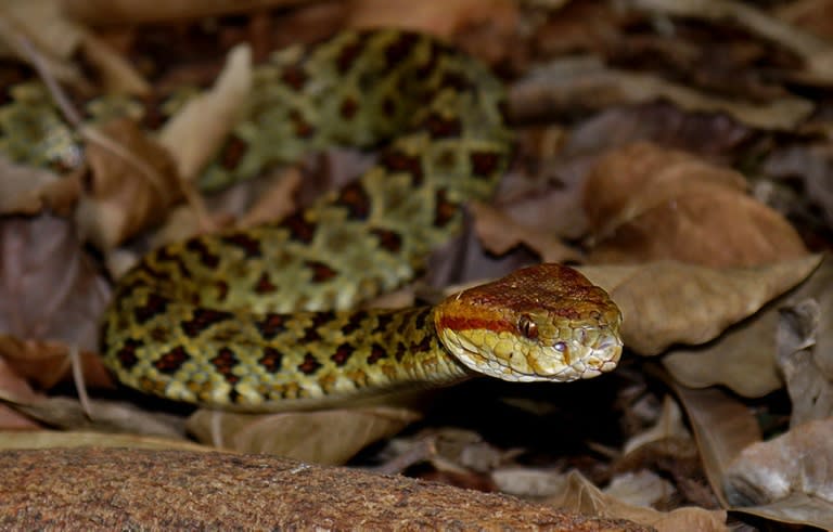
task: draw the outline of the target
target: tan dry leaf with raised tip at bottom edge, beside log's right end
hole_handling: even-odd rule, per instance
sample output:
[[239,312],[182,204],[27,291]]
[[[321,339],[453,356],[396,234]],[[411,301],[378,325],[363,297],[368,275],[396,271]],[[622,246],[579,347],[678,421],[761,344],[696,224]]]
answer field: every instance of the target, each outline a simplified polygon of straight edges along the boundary
[[602,493],[577,471],[567,476],[562,491],[547,501],[556,508],[585,515],[620,518],[654,527],[658,532],[679,530],[726,531],[726,511],[678,508],[663,512],[623,503]]

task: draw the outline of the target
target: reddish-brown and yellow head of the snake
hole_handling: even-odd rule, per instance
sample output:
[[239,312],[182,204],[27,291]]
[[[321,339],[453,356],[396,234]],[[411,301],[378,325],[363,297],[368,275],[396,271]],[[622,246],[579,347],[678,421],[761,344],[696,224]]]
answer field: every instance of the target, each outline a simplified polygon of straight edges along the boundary
[[470,369],[512,381],[569,381],[616,367],[621,313],[561,264],[517,270],[449,297],[434,312],[444,346]]

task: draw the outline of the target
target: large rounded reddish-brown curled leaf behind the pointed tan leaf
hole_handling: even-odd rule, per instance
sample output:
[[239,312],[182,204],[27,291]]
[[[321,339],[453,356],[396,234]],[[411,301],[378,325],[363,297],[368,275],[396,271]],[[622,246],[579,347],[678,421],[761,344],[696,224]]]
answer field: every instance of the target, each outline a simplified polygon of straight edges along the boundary
[[644,143],[614,151],[586,185],[589,261],[753,265],[806,255],[795,229],[743,187],[742,176],[691,155]]

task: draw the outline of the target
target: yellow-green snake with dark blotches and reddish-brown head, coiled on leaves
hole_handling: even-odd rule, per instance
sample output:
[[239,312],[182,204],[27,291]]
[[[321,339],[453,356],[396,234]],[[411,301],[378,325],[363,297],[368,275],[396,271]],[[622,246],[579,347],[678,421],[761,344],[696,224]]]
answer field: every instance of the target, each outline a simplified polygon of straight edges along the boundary
[[104,361],[121,382],[256,412],[475,375],[567,381],[615,367],[618,309],[558,264],[435,307],[353,310],[413,278],[461,229],[462,205],[496,189],[512,135],[487,67],[427,36],[345,31],[278,53],[254,86],[208,173],[246,177],[331,144],[380,145],[377,163],[280,222],[146,255],[104,317]]

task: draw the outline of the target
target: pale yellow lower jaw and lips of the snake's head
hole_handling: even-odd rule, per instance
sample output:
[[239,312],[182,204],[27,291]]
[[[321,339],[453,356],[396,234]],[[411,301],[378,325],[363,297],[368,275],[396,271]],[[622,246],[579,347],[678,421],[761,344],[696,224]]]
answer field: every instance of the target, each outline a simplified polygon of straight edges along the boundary
[[473,372],[516,382],[597,377],[616,367],[623,349],[614,332],[600,334],[592,342],[580,341],[586,340],[582,334],[540,342],[484,329],[444,330],[441,336],[451,354]]

